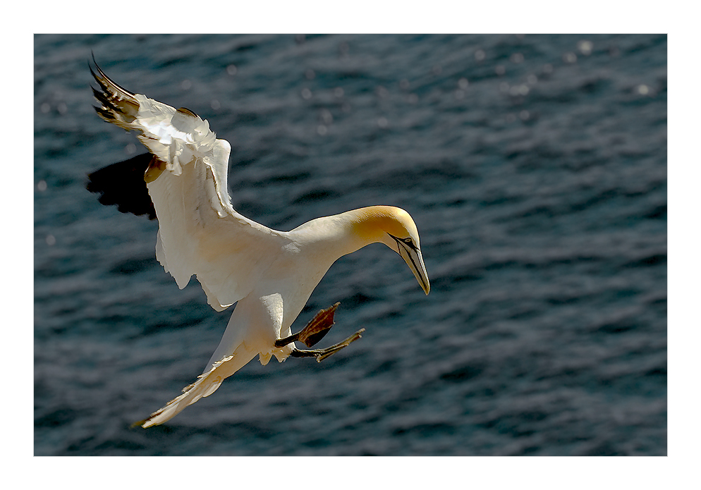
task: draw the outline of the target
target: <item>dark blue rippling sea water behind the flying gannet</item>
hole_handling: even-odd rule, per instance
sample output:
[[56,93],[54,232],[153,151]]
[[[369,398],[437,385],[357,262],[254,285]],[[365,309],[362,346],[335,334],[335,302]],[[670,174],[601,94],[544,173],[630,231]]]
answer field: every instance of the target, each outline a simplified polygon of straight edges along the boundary
[[[86,174],[142,152],[87,59],[207,118],[233,205],[288,230],[412,214],[428,297],[383,245],[343,257],[297,330],[166,425],[230,312],[178,290],[157,223]],[[666,455],[664,35],[35,37],[35,455]]]

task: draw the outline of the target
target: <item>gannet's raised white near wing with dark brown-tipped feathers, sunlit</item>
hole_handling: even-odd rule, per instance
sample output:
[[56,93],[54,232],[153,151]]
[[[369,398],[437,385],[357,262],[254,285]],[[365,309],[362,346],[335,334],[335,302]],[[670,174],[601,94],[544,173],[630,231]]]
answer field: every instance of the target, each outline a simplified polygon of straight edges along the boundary
[[217,140],[206,120],[133,94],[95,68],[97,114],[136,131],[153,155],[144,180],[159,222],[157,259],[181,289],[196,274],[214,310],[233,305],[250,293],[286,233],[233,209],[226,183],[231,145]]

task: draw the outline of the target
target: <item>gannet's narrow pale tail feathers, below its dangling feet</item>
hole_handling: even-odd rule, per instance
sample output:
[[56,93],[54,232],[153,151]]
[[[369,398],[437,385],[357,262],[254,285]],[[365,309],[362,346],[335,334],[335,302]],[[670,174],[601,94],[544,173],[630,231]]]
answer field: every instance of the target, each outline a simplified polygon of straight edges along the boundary
[[185,410],[188,405],[217,391],[221,381],[247,365],[256,355],[257,352],[246,349],[245,344],[241,343],[232,355],[215,362],[212,369],[197,376],[197,381],[193,384],[185,386],[181,396],[170,400],[163,408],[153,412],[149,418],[135,422],[134,426],[140,425],[147,428],[167,422]]

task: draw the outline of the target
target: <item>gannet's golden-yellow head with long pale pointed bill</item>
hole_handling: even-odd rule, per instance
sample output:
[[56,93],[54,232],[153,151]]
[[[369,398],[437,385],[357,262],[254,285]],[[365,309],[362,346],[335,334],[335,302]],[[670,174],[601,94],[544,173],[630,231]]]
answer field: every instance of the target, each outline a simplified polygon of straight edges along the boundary
[[409,213],[393,206],[372,206],[357,211],[355,233],[370,242],[384,243],[401,255],[428,294],[431,285],[421,256],[419,233]]

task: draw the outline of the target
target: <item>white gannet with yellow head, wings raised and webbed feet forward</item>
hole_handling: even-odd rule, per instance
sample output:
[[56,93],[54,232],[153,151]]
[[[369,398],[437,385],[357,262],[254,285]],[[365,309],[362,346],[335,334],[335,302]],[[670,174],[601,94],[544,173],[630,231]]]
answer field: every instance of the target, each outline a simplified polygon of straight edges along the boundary
[[331,264],[365,245],[384,243],[401,255],[429,293],[419,234],[408,212],[364,207],[312,219],[291,231],[256,223],[232,207],[227,186],[231,145],[217,139],[206,119],[133,94],[97,63],[95,68],[90,72],[99,85],[99,90],[92,87],[97,114],[137,132],[150,153],[92,173],[88,190],[102,192],[103,204],[119,204],[123,212],[158,220],[156,257],[179,288],[195,275],[214,310],[236,303],[224,337],[197,381],[136,424],[163,424],[214,393],[256,355],[262,365],[273,355],[279,362],[289,356],[320,362],[360,338],[364,329],[326,349],[295,347],[295,341],[307,347],[319,341],[334,324],[339,303],[319,312],[295,335],[291,325]]

